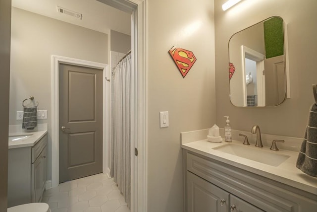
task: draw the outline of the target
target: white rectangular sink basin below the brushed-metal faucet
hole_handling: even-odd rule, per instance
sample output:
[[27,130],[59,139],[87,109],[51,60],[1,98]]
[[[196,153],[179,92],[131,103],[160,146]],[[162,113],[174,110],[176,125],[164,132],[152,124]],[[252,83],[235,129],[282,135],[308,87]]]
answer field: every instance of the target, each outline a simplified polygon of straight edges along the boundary
[[249,160],[254,160],[270,166],[279,166],[290,156],[285,154],[278,154],[276,152],[269,152],[258,147],[241,146],[233,143],[228,143],[222,146],[214,147],[213,149],[222,151],[228,154],[243,157]]

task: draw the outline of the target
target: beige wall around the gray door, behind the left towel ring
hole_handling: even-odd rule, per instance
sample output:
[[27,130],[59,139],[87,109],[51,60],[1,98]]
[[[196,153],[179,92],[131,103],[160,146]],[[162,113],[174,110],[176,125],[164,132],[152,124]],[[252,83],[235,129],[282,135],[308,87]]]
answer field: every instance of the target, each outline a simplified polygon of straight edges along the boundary
[[48,110],[48,179],[51,179],[52,55],[107,64],[107,35],[12,7],[9,124],[22,100],[33,95],[40,110]]

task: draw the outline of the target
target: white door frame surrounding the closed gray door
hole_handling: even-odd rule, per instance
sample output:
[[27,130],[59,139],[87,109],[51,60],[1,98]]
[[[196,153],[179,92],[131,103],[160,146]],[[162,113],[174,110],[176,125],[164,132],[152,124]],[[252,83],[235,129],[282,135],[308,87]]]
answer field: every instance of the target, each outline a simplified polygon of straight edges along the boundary
[[107,143],[110,141],[110,82],[107,65],[74,58],[52,56],[52,187],[59,182],[59,64],[103,70],[103,172],[107,171]]

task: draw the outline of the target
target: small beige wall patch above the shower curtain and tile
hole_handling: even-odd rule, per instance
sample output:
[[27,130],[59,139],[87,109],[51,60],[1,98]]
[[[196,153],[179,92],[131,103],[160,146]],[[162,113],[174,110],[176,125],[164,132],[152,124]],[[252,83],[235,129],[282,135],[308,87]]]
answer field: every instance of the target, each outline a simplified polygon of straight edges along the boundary
[[131,50],[131,36],[110,30],[110,50],[127,53]]

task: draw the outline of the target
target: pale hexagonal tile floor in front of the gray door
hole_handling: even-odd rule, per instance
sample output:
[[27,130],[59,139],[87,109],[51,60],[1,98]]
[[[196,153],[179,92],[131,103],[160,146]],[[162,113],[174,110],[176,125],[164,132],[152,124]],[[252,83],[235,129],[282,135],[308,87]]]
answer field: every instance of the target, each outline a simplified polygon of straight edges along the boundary
[[113,179],[104,174],[61,183],[45,191],[42,202],[52,212],[130,212]]

